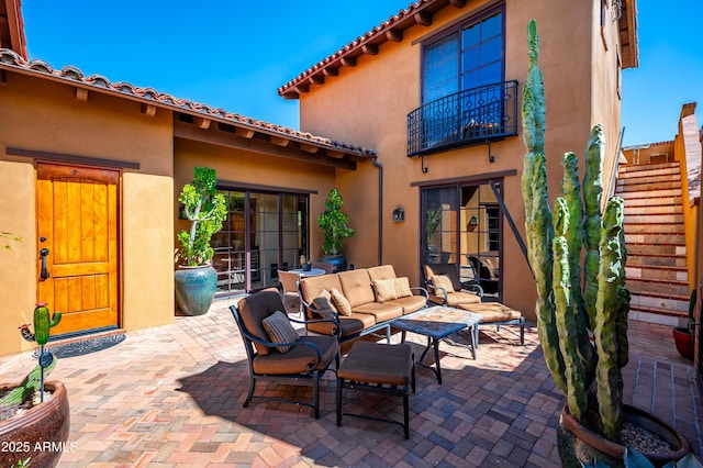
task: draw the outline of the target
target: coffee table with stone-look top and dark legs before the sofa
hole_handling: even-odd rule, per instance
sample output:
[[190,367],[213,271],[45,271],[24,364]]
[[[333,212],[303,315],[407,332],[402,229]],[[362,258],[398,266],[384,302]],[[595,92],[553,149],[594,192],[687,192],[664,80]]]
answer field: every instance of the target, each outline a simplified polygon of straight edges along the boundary
[[[442,367],[439,366],[439,341],[457,333],[461,330],[469,328],[471,337],[471,353],[476,359],[477,343],[479,341],[479,323],[483,316],[478,313],[464,311],[460,309],[449,308],[446,305],[435,305],[423,309],[417,312],[403,315],[395,319],[391,326],[402,331],[402,342],[405,342],[406,332],[417,333],[427,337],[427,347],[417,360],[417,364],[432,369],[437,376],[437,382],[442,383]],[[434,348],[435,367],[423,364],[425,355]]]

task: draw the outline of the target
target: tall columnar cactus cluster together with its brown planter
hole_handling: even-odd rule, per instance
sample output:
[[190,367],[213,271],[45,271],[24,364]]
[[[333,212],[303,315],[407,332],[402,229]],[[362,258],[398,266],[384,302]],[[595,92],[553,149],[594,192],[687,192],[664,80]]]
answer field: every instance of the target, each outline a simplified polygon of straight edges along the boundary
[[[528,261],[537,286],[537,331],[547,367],[567,395],[557,431],[563,466],[595,459],[622,466],[625,421],[667,439],[669,454],[645,454],[656,464],[683,457],[690,447],[654,415],[623,405],[621,369],[627,364],[626,249],[623,200],[612,197],[601,214],[601,125],[585,149],[583,198],[578,160],[565,155],[561,197],[549,208],[545,164],[545,93],[537,65],[537,24],[528,29],[529,70],[523,89],[524,158],[522,190]],[[582,250],[585,250],[583,254]],[[583,255],[582,255],[583,254]],[[581,267],[583,258],[583,267]],[[581,279],[583,269],[583,280]],[[592,337],[592,339],[591,339]]]

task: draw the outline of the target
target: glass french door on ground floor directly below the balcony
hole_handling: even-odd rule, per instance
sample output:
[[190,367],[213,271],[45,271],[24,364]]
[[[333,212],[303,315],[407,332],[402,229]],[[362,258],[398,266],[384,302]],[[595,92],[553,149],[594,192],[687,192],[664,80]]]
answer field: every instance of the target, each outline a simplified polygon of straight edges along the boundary
[[491,186],[424,188],[421,203],[423,263],[453,264],[462,281],[500,300],[503,216]]

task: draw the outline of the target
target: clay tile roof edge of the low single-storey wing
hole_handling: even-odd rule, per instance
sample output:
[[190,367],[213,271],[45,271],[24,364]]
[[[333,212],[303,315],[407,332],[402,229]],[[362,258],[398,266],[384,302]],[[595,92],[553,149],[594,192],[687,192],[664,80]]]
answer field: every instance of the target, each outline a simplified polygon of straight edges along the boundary
[[75,86],[77,88],[111,94],[122,99],[130,99],[193,116],[207,118],[225,124],[260,132],[266,135],[284,137],[299,143],[319,146],[332,152],[341,152],[362,159],[376,157],[376,152],[373,149],[336,142],[330,138],[315,136],[311,133],[299,132],[282,125],[231,113],[222,108],[212,108],[208,104],[158,92],[154,88],[138,88],[132,83],[123,81],[111,82],[108,78],[101,75],[85,77],[82,71],[74,66],[66,66],[63,69],[57,70],[46,62],[40,59],[25,60],[14,51],[7,48],[0,48],[0,69],[40,77],[62,82],[64,85]]

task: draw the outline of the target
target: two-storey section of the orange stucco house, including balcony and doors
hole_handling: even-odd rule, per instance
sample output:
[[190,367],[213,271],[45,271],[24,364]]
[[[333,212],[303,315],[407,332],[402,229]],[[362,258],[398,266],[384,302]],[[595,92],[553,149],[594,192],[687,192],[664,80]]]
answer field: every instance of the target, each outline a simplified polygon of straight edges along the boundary
[[[526,25],[539,26],[556,197],[561,156],[582,155],[596,123],[607,141],[604,180],[612,179],[621,71],[638,63],[636,18],[635,1],[419,1],[283,85],[279,94],[300,101],[303,131],[378,154],[377,165],[335,178],[354,222],[368,227],[348,242],[354,263],[372,264],[380,253],[378,261],[415,282],[424,263],[453,263],[534,319],[518,243]],[[402,222],[393,216],[400,210]]]

